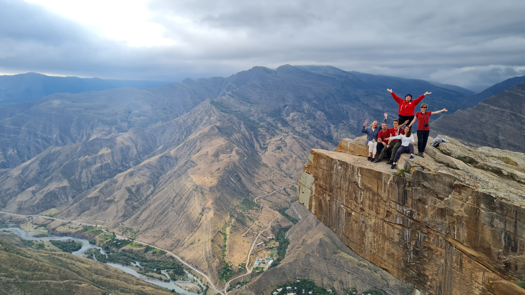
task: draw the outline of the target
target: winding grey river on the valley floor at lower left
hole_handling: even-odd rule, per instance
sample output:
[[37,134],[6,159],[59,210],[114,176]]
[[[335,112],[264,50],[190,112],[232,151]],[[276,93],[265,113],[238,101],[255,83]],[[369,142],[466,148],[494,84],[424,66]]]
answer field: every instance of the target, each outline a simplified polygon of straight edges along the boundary
[[[87,249],[89,248],[98,248],[100,250],[100,252],[103,254],[104,251],[102,250],[102,248],[100,247],[97,247],[96,245],[93,245],[93,244],[90,244],[89,241],[87,239],[81,239],[81,238],[72,238],[72,237],[58,237],[58,236],[50,236],[50,237],[42,237],[42,238],[36,238],[36,237],[33,237],[31,234],[35,235],[35,234],[40,234],[40,233],[45,233],[44,231],[26,231],[22,228],[18,228],[18,227],[8,227],[8,228],[3,228],[2,230],[9,230],[9,231],[13,231],[13,233],[15,233],[17,236],[19,236],[20,238],[23,238],[23,239],[27,239],[27,240],[75,240],[75,241],[79,241],[80,243],[82,243],[82,248],[80,248],[80,250],[78,251],[74,251],[72,252],[71,254],[73,255],[76,255],[76,256],[80,256],[80,257],[83,257],[84,256],[84,252],[86,252]],[[141,273],[138,273],[137,271],[135,271],[134,269],[130,268],[130,267],[127,267],[127,266],[122,266],[122,265],[118,265],[118,264],[113,264],[113,263],[106,263],[107,265],[109,266],[112,266],[114,268],[118,268],[122,271],[125,271],[127,273],[130,273],[131,275],[139,278],[139,279],[142,279],[144,281],[148,281],[150,283],[153,283],[157,286],[160,286],[160,287],[164,287],[164,288],[167,288],[167,289],[175,289],[175,291],[177,291],[178,293],[180,294],[183,294],[183,295],[198,295],[197,293],[194,293],[194,292],[190,292],[190,291],[186,291],[184,289],[182,289],[181,287],[178,287],[175,282],[191,282],[191,279],[195,279],[195,282],[201,286],[201,288],[204,290],[204,285],[203,283],[201,283],[200,280],[198,280],[196,277],[194,277],[191,273],[188,273],[186,270],[184,270],[184,272],[186,272],[186,275],[188,276],[188,280],[187,281],[173,281],[173,280],[170,280],[169,282],[166,282],[166,281],[162,281],[162,280],[158,280],[158,279],[152,279],[152,278],[148,278],[144,275],[142,275]],[[138,262],[137,262],[138,264]],[[165,270],[162,270],[161,271],[162,273],[164,273],[164,275],[166,275],[168,278],[170,277],[169,275],[167,275],[167,273],[165,272]]]

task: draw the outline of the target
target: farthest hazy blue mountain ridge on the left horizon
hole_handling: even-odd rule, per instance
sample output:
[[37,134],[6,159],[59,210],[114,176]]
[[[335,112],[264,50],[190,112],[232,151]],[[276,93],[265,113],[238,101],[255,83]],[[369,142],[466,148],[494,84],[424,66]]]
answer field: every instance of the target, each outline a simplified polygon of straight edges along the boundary
[[54,77],[39,73],[0,76],[0,106],[32,101],[57,92],[80,93],[110,88],[146,89],[164,85],[160,81],[103,80],[99,78]]

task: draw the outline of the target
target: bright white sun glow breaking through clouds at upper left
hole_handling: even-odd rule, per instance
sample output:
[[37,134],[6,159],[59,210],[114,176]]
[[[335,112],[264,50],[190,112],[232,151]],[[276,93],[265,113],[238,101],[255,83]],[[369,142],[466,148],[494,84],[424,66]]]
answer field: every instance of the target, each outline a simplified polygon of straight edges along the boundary
[[173,45],[164,38],[166,29],[149,21],[146,0],[25,0],[43,5],[76,22],[96,27],[108,38],[130,46]]

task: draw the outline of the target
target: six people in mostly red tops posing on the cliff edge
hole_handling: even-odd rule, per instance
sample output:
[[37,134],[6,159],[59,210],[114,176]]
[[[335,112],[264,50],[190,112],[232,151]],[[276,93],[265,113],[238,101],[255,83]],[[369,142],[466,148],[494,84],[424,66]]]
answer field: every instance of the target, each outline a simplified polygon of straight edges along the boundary
[[[405,99],[398,97],[392,89],[386,89],[392,94],[394,100],[399,104],[398,114],[399,118],[394,119],[392,124],[393,128],[388,128],[386,119],[388,114],[384,113],[385,119],[379,127],[378,121],[373,121],[370,127],[366,127],[368,121],[365,121],[362,133],[366,133],[366,145],[368,149],[368,160],[374,163],[381,162],[383,159],[390,159],[386,163],[392,164],[393,169],[396,165],[397,160],[403,153],[410,153],[410,159],[414,158],[414,134],[412,134],[412,125],[417,120],[417,151],[416,155],[425,157],[425,147],[428,141],[428,134],[430,133],[429,118],[432,114],[440,112],[448,112],[447,109],[429,112],[427,111],[427,104],[421,104],[421,112],[417,112],[414,115],[414,109],[419,102],[421,102],[425,96],[432,92],[425,92],[422,96],[416,100],[412,100],[412,94],[406,94]],[[403,124],[400,125],[400,123]],[[403,128],[403,126],[405,126]],[[377,156],[376,156],[377,155]]]

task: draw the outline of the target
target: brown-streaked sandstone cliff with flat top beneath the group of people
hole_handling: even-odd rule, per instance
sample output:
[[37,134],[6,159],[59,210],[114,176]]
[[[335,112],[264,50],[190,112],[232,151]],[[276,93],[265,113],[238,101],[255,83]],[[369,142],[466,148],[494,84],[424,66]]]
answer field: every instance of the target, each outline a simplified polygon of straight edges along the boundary
[[355,154],[311,150],[298,181],[299,202],[346,246],[422,294],[525,294],[513,283],[525,280],[525,186],[478,166],[519,172],[525,155],[449,139],[403,155],[399,175]]

